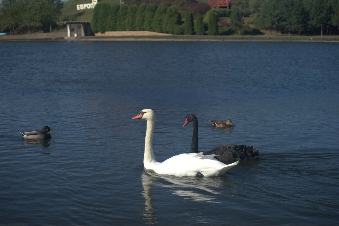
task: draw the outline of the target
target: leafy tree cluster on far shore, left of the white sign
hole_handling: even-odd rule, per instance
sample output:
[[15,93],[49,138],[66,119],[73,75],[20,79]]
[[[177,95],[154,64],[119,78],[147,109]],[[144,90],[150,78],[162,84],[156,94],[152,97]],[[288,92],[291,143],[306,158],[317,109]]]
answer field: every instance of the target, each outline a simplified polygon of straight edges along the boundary
[[0,31],[48,30],[59,22],[61,0],[2,0],[0,4]]

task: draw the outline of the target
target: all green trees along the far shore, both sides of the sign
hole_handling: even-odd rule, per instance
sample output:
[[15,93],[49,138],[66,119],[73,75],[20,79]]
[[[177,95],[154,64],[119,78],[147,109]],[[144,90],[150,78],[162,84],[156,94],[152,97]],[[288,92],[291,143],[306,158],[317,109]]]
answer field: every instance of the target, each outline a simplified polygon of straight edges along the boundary
[[[91,19],[93,32],[147,30],[187,35],[255,35],[262,29],[299,35],[339,33],[339,0],[233,0],[231,9],[210,8],[195,0],[184,1],[184,8],[174,0],[126,2],[123,5],[99,2]],[[2,0],[0,31],[12,34],[52,31],[60,20],[62,7],[61,0]],[[245,17],[250,22],[245,22]]]

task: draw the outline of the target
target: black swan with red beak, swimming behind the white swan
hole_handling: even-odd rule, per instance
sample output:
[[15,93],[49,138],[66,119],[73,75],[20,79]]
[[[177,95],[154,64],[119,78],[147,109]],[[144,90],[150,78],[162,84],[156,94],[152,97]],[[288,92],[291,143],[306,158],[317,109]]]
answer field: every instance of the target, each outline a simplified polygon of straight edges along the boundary
[[[191,143],[191,151],[190,153],[199,153],[199,145],[198,145],[198,119],[194,114],[189,114],[186,116],[184,126],[187,123],[193,121],[193,136]],[[246,146],[245,144],[227,144],[217,146],[210,151],[206,151],[203,153],[204,155],[218,155],[215,156],[219,161],[230,164],[232,162],[242,160],[254,160],[258,159],[261,156],[259,155],[259,151],[255,149],[254,146]]]

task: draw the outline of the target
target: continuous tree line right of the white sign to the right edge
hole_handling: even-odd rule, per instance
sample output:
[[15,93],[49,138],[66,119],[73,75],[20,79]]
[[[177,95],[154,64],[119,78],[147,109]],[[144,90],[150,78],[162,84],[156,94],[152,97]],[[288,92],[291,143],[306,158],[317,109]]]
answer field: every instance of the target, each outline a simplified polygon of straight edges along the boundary
[[[184,20],[181,18],[184,14]],[[229,18],[227,21],[223,18]],[[251,28],[244,21],[250,17]],[[161,2],[140,5],[97,4],[91,19],[92,30],[147,30],[171,34],[227,35],[258,34],[259,29],[274,32],[332,35],[338,33],[339,0],[233,0],[231,9],[211,8],[207,12]]]

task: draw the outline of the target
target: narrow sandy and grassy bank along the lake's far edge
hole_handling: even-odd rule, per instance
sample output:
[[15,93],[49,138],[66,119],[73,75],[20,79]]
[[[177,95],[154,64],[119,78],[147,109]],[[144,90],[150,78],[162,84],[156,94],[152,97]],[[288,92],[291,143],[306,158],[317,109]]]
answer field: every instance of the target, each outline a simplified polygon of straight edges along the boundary
[[339,36],[268,36],[268,35],[230,35],[196,36],[169,35],[148,31],[111,31],[95,36],[67,37],[67,32],[33,33],[25,35],[0,36],[0,42],[36,41],[232,41],[232,42],[330,42],[339,43]]

